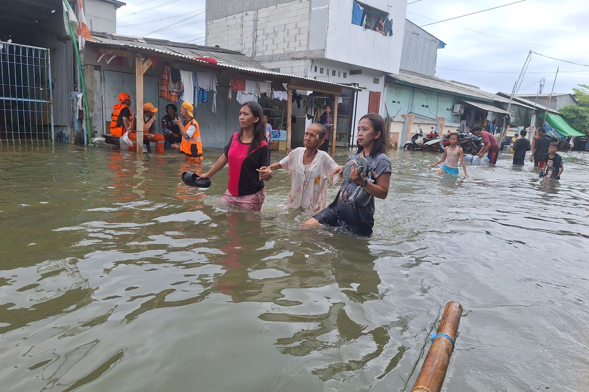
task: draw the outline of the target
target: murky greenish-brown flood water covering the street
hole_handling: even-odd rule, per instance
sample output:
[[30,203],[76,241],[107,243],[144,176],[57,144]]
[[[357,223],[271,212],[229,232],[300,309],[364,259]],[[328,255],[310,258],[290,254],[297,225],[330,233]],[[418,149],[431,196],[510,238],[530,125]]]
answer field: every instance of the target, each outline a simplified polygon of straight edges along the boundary
[[300,230],[286,172],[247,213],[176,152],[0,146],[1,390],[411,391],[451,300],[445,391],[588,390],[589,154],[560,182],[389,155],[360,239]]

